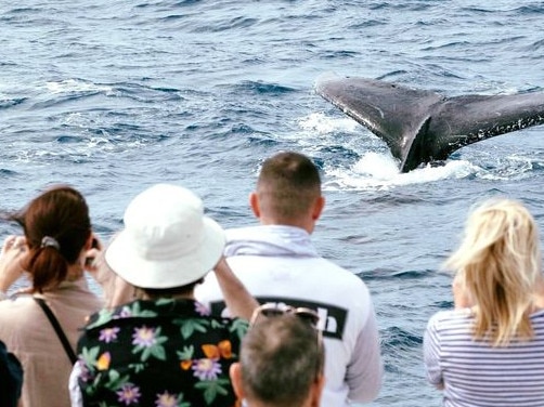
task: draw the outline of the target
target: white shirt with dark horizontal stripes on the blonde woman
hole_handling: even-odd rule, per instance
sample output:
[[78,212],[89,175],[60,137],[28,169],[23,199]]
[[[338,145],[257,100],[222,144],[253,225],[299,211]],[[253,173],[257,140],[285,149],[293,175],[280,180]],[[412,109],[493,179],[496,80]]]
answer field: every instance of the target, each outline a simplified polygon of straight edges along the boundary
[[544,406],[544,310],[531,314],[534,338],[493,347],[475,341],[469,308],[440,311],[424,337],[427,380],[444,389],[443,406]]

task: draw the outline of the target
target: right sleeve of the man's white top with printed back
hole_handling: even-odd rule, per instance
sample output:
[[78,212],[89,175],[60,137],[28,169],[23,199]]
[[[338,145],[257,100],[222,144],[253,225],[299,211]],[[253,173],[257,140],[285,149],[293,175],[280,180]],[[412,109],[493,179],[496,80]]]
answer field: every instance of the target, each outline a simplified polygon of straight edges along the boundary
[[378,327],[374,306],[359,332],[353,355],[348,365],[346,381],[351,402],[371,403],[379,393],[384,377]]

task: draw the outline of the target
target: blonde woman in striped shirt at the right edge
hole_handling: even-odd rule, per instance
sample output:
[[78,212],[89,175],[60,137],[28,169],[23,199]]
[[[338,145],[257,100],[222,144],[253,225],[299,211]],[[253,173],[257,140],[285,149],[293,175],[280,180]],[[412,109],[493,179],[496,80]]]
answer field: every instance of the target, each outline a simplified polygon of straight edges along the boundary
[[468,218],[445,262],[455,310],[435,314],[424,338],[428,381],[444,406],[544,406],[544,301],[537,226],[509,199]]

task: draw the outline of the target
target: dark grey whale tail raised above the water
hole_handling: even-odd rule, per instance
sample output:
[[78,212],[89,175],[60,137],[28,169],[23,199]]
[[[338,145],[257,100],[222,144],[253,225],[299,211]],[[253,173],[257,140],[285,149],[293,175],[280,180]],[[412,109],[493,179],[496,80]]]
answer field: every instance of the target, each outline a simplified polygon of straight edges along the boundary
[[544,92],[446,97],[355,77],[318,79],[315,91],[383,139],[401,172],[445,160],[468,144],[544,123]]

